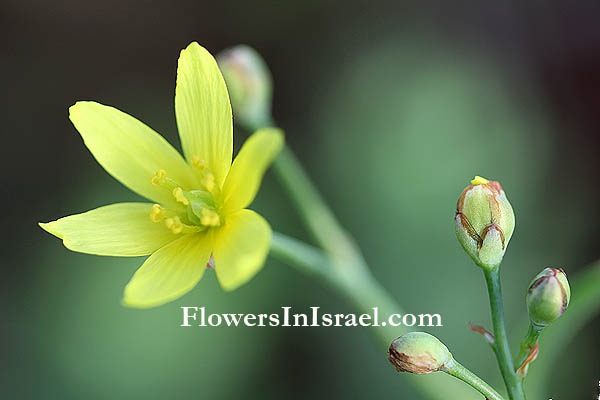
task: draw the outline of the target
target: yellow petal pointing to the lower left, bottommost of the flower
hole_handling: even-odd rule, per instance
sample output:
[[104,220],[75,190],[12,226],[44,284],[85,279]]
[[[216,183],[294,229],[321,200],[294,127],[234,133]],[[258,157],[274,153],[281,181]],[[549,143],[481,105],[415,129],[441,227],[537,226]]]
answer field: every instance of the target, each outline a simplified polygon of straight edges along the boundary
[[123,304],[150,308],[183,296],[202,278],[212,250],[206,233],[185,235],[152,254],[125,287]]

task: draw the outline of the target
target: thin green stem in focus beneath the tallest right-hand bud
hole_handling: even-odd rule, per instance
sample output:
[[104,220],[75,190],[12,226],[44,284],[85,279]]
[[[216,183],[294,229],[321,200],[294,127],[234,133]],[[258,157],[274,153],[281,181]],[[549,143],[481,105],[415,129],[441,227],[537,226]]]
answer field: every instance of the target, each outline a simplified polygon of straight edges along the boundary
[[500,268],[493,270],[484,269],[485,281],[487,283],[488,294],[490,297],[490,308],[492,312],[492,324],[494,326],[495,344],[494,352],[498,359],[498,365],[502,378],[508,391],[508,396],[512,400],[525,400],[525,392],[521,379],[513,368],[508,336],[506,335],[506,326],[504,324],[504,306],[502,304],[502,289],[500,286]]

